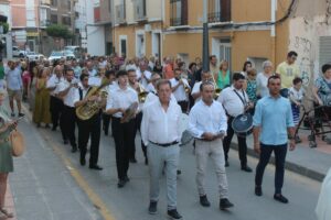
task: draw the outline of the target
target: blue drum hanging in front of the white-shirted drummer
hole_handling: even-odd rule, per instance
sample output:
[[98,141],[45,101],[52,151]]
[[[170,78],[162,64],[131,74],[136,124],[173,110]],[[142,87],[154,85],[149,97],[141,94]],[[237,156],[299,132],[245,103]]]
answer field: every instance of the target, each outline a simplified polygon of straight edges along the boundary
[[237,116],[232,121],[232,129],[238,136],[247,136],[253,132],[253,117],[246,112]]

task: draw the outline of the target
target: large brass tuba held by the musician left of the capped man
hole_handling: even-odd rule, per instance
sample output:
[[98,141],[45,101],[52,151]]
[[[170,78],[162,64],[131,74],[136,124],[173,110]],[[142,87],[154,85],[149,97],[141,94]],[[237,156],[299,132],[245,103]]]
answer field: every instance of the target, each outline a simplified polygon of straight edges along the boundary
[[[110,84],[109,80],[105,80],[98,87],[92,87],[86,95],[86,97],[99,96],[102,100],[106,99],[108,92],[102,91],[102,89]],[[76,116],[78,119],[85,121],[90,119],[94,114],[96,114],[103,108],[103,101],[87,101],[86,103],[76,108]]]

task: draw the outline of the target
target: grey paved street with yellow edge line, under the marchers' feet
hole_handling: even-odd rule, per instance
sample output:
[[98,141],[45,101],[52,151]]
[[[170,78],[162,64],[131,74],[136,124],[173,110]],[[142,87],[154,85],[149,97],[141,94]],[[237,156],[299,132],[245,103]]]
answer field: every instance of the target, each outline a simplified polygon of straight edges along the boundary
[[[26,136],[28,152],[15,160],[15,173],[10,177],[11,190],[19,220],[149,220],[167,219],[166,183],[162,179],[159,213],[149,216],[148,167],[143,165],[138,148],[138,164],[130,164],[130,183],[117,188],[115,146],[110,136],[102,135],[99,164],[104,170],[90,170],[78,164],[78,154],[72,154],[63,145],[60,132],[36,129],[28,119],[20,124]],[[138,139],[137,145],[140,142]],[[295,152],[293,152],[295,153]],[[291,153],[292,154],[292,153]],[[206,186],[212,207],[199,205],[195,187],[195,161],[192,146],[182,147],[181,169],[178,180],[178,209],[190,220],[313,220],[320,183],[286,173],[284,195],[290,204],[282,205],[273,199],[274,167],[266,169],[264,196],[254,196],[254,174],[239,169],[237,153],[231,151],[227,177],[229,199],[235,207],[220,211],[216,178],[212,163],[209,164]],[[256,160],[249,158],[256,166]]]

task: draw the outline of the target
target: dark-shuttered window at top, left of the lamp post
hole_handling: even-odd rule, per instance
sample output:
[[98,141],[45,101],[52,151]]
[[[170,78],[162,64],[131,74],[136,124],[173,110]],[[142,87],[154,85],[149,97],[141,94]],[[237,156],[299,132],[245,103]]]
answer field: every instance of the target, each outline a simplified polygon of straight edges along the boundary
[[188,24],[188,0],[170,0],[170,25]]

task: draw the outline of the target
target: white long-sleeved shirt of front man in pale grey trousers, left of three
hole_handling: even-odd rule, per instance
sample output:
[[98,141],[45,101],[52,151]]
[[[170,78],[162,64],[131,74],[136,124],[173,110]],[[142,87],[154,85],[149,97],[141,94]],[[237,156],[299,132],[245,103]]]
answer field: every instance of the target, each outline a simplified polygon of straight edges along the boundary
[[158,144],[172,143],[181,140],[180,119],[182,110],[180,106],[170,101],[168,110],[156,100],[143,109],[141,121],[141,139],[146,145],[149,141]]

